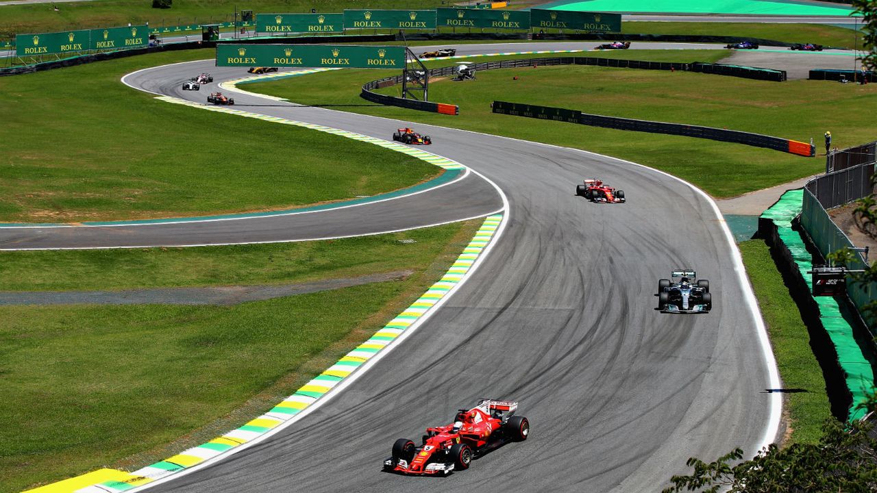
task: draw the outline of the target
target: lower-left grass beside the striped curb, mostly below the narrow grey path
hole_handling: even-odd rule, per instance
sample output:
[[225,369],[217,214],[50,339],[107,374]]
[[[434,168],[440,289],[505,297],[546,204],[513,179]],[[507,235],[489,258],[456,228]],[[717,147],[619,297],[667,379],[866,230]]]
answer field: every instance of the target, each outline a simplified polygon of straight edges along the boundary
[[[404,250],[419,249],[401,262],[415,274],[400,282],[231,307],[0,307],[0,492],[104,465],[142,467],[242,425],[417,299],[480,224],[383,235],[376,247],[319,242],[364,258],[405,258]],[[253,248],[276,258],[274,246]],[[234,249],[212,250],[221,259]],[[260,268],[251,274],[271,277]],[[322,277],[335,276],[339,272],[323,266]]]

